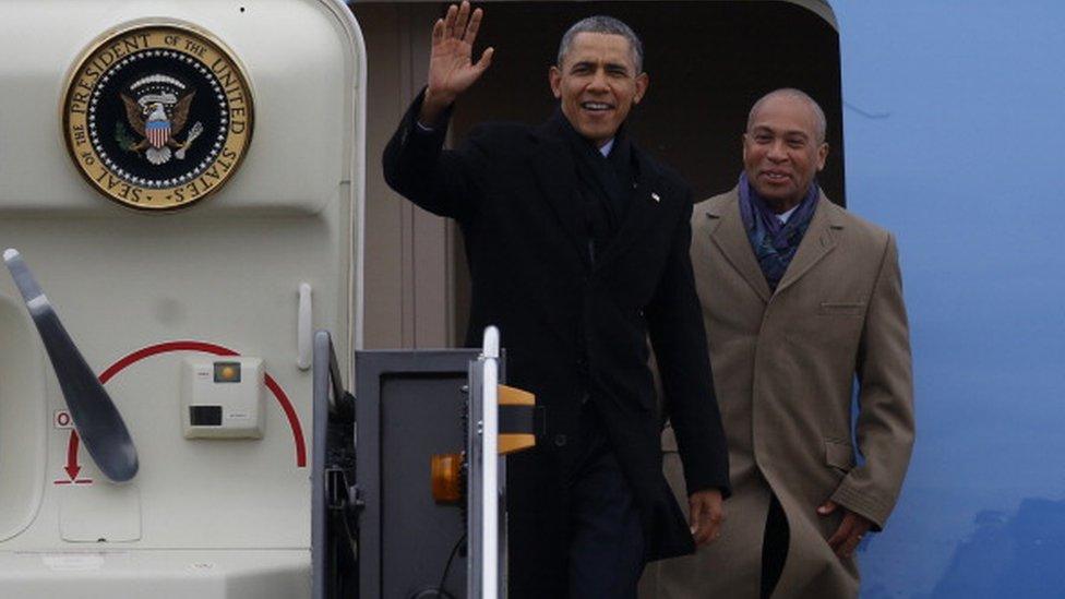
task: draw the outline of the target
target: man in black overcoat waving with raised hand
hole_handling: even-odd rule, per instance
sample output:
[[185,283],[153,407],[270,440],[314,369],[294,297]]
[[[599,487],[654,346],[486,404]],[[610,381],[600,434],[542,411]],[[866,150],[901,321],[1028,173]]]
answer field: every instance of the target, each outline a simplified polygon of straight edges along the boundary
[[[507,460],[513,598],[627,598],[649,560],[718,535],[728,457],[689,257],[690,191],[626,134],[647,89],[643,48],[595,16],[565,34],[537,128],[482,124],[443,149],[482,12],[452,5],[429,84],[384,154],[388,184],[462,227],[472,278],[466,344],[496,325],[510,384],[546,407],[537,446]],[[662,477],[650,338],[686,478],[684,522]]]

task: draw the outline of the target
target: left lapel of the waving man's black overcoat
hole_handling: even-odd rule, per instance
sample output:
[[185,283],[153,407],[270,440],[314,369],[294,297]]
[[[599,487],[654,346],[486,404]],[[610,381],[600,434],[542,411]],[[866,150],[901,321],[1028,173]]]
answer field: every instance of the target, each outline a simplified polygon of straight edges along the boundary
[[577,175],[573,155],[558,130],[554,119],[540,127],[535,139],[537,148],[532,155],[532,170],[543,199],[554,211],[566,237],[573,243],[581,259],[587,263],[587,231],[584,230],[584,214],[581,199],[576,195]]

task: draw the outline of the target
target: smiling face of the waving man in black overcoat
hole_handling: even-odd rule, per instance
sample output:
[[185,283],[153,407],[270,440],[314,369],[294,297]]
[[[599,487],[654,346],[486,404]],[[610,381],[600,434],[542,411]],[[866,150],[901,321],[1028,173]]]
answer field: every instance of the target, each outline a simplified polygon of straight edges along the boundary
[[562,64],[551,68],[550,81],[570,124],[597,146],[618,133],[648,83],[646,73],[636,72],[627,39],[587,32],[573,38]]

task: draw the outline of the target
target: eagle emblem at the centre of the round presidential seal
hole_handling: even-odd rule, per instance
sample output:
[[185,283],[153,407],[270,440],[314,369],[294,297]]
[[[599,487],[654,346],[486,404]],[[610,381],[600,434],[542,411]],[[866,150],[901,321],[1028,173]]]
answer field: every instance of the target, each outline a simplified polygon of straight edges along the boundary
[[195,95],[195,89],[188,91],[184,83],[169,75],[155,74],[137,80],[130,85],[130,95],[120,92],[119,96],[125,106],[125,120],[139,139],[130,136],[119,121],[116,127],[119,145],[128,152],[143,153],[144,158],[156,166],[168,163],[171,157],[184,159],[186,151],[203,132],[203,123],[196,122],[184,141],[177,139],[189,120],[189,108]]

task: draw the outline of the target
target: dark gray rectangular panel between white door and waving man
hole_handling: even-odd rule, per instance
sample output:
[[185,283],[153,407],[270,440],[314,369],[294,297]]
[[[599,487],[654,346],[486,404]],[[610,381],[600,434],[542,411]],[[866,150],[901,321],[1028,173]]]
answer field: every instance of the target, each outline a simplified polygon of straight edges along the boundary
[[[476,349],[356,352],[357,471],[366,501],[361,597],[407,599],[440,584],[466,524],[457,505],[433,501],[430,458],[465,450],[464,387],[478,355]],[[458,553],[447,591],[465,596],[465,576],[466,560]]]

